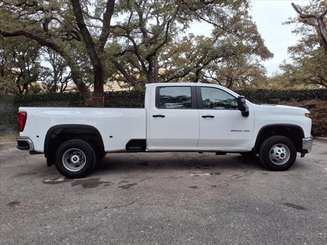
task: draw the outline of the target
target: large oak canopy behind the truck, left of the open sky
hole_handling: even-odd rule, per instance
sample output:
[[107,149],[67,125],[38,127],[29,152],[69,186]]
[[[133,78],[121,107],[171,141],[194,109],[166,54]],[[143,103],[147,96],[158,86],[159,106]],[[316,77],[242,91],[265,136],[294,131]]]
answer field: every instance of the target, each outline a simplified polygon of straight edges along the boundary
[[[72,80],[89,105],[92,83],[97,96],[108,81],[134,88],[155,82],[200,81],[229,88],[258,83],[266,74],[260,62],[272,54],[249,9],[249,0],[6,0],[0,4],[0,37],[38,43],[36,58],[52,66],[41,72],[38,64],[39,72],[33,72],[42,77],[38,81],[46,84],[45,91],[62,92]],[[187,35],[194,21],[211,26],[211,36]],[[94,44],[81,32],[82,22]]]

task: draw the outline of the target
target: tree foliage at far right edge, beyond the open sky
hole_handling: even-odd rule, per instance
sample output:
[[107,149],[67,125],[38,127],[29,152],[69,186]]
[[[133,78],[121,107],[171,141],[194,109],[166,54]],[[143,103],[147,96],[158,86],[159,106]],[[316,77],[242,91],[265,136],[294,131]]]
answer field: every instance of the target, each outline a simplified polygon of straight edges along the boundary
[[[312,0],[302,7],[304,13],[322,13],[327,8],[326,1]],[[323,18],[324,25],[327,18]],[[308,84],[311,87],[327,87],[327,57],[322,44],[321,33],[315,18],[291,18],[285,24],[296,24],[292,31],[299,39],[288,48],[292,63],[285,61],[279,66],[284,79],[289,84]]]

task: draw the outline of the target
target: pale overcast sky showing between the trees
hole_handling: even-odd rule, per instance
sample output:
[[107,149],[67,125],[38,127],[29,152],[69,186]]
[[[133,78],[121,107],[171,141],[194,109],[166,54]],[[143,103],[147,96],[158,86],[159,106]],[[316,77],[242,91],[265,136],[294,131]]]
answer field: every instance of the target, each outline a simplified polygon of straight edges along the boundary
[[[289,55],[287,54],[287,48],[294,45],[297,41],[297,37],[291,31],[295,25],[283,25],[282,23],[287,21],[289,17],[296,17],[291,3],[296,5],[308,5],[310,1],[307,0],[252,0],[252,8],[250,14],[253,21],[258,27],[258,31],[262,38],[265,40],[265,44],[274,54],[274,57],[270,60],[262,62],[267,68],[268,76],[273,75],[279,71],[278,65],[284,60],[291,62]],[[209,36],[212,28],[205,23],[194,22],[191,24],[188,33],[194,33],[195,35]]]

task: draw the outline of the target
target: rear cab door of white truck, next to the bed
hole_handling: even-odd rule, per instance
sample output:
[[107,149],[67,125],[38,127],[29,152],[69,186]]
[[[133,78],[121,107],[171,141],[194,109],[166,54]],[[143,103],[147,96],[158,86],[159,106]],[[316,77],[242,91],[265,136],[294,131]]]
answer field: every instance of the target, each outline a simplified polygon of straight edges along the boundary
[[[199,112],[195,86],[157,86],[151,97],[149,150],[196,148]],[[151,92],[151,96],[154,92]],[[155,103],[154,103],[155,101]]]

